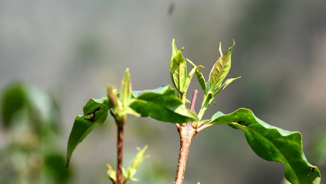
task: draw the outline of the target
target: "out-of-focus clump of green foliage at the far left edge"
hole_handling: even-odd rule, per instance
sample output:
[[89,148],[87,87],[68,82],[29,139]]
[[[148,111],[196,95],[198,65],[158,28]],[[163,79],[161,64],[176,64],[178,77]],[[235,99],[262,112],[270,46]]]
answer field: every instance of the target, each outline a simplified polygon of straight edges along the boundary
[[8,86],[1,97],[0,183],[64,184],[71,170],[57,150],[58,114],[50,96],[22,83]]

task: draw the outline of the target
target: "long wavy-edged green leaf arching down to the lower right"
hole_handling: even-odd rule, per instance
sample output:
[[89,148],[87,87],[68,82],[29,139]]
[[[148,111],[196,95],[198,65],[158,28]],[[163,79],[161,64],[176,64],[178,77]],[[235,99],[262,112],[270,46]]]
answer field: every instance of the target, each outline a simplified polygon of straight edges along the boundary
[[229,124],[234,129],[243,129],[248,144],[259,157],[284,163],[285,177],[292,184],[320,183],[319,169],[308,163],[304,156],[299,132],[271,126],[245,108],[227,115],[217,112],[210,123]]

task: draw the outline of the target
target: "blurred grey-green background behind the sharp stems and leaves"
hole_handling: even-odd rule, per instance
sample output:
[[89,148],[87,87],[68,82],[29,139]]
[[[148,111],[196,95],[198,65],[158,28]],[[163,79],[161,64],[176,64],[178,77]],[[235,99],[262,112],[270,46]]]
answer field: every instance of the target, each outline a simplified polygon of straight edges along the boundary
[[[119,88],[126,67],[133,90],[171,84],[172,38],[178,49],[185,47],[186,58],[206,67],[206,80],[219,42],[225,51],[234,39],[228,78],[242,78],[215,98],[204,119],[246,107],[271,125],[300,131],[305,155],[324,182],[326,138],[324,146],[319,140],[326,135],[326,1],[1,0],[1,94],[20,81],[51,96],[58,110],[57,152],[65,155],[74,116],[89,98],[105,96],[106,85]],[[194,89],[200,89],[195,78]],[[9,135],[2,125],[1,149],[10,145]],[[109,117],[74,151],[67,183],[111,183],[106,163],[115,165],[115,142]],[[146,144],[151,157],[136,174],[139,183],[173,183],[180,144],[175,126],[130,116],[125,167],[135,148]],[[282,163],[254,154],[243,131],[220,125],[193,139],[184,183],[275,184],[283,173]]]

